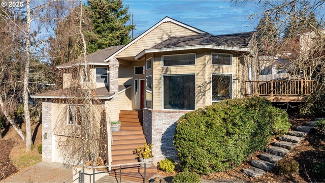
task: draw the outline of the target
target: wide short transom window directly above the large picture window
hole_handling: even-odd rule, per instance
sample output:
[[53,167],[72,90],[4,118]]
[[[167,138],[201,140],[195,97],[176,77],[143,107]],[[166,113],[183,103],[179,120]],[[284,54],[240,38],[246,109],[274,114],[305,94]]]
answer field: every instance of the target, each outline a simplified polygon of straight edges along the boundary
[[164,55],[162,66],[186,66],[195,65],[195,53]]

